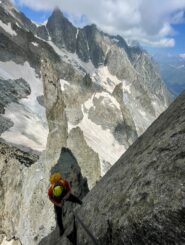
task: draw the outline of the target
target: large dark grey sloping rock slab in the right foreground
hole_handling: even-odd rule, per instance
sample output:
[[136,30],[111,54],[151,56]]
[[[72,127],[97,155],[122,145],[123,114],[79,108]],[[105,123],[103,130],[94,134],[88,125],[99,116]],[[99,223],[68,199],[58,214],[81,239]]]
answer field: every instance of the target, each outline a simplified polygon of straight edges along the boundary
[[[85,197],[77,213],[100,244],[185,243],[184,129],[185,93]],[[78,244],[92,244],[79,224]]]

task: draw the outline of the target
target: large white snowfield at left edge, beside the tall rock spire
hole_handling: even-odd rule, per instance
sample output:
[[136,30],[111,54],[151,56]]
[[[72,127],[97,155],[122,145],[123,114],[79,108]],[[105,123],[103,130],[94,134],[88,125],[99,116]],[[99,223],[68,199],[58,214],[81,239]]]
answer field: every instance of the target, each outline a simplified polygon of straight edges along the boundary
[[43,95],[43,85],[35,70],[25,62],[23,65],[13,61],[0,62],[0,76],[4,79],[23,78],[31,88],[27,98],[19,100],[19,104],[11,103],[5,108],[5,117],[13,121],[14,126],[1,137],[13,144],[31,147],[37,151],[45,149],[48,128],[45,108],[37,100]]

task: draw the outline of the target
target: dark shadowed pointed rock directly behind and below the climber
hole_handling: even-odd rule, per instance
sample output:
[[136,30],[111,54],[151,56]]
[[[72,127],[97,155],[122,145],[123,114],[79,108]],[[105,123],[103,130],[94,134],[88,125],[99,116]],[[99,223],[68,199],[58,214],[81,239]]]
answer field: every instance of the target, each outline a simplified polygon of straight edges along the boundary
[[[78,165],[78,162],[68,148],[62,148],[60,157],[55,166],[51,169],[51,174],[60,172],[63,178],[67,179],[72,187],[72,193],[82,199],[88,193],[87,179],[83,178]],[[66,229],[63,237],[66,237],[71,232],[71,225],[73,223],[73,209],[76,204],[65,202],[63,210],[63,223]],[[69,229],[68,229],[69,228]],[[65,239],[65,238],[64,238]],[[67,239],[67,238],[66,238]],[[54,245],[59,242],[58,227],[56,227],[47,237],[43,238],[38,244]],[[66,242],[69,242],[66,240]]]

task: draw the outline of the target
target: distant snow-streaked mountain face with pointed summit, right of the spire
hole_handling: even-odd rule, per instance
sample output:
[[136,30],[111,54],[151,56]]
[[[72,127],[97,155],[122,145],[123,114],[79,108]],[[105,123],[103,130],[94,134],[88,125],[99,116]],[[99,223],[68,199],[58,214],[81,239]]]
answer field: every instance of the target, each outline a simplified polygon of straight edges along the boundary
[[103,175],[168,107],[171,96],[149,55],[123,38],[104,34],[95,25],[75,28],[59,9],[46,28],[49,44],[78,72],[75,79],[70,73],[60,80],[68,133],[82,130],[99,155]]

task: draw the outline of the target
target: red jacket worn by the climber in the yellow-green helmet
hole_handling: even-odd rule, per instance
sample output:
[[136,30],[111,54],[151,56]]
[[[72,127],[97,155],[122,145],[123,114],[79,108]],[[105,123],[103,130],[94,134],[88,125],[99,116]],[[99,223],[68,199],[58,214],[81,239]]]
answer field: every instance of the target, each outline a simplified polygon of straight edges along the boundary
[[52,202],[56,202],[58,204],[61,203],[62,199],[65,197],[65,195],[71,191],[71,187],[70,187],[70,184],[67,180],[61,180],[61,181],[57,181],[57,183],[59,183],[64,189],[62,191],[62,194],[61,196],[59,197],[55,197],[53,195],[53,187],[54,185],[51,185],[48,189],[48,196],[49,196],[49,199],[52,201]]

